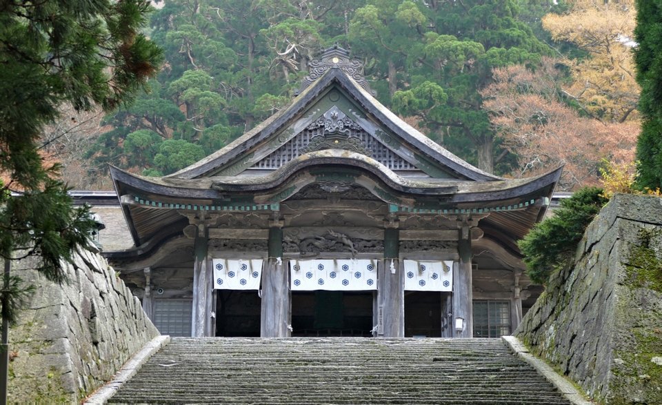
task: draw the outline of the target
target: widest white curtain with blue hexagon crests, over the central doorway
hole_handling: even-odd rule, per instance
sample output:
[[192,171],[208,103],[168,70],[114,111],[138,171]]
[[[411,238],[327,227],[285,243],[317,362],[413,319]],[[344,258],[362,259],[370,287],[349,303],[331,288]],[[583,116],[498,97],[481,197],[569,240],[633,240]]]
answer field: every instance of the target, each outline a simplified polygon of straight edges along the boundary
[[377,290],[377,260],[290,260],[292,291]]

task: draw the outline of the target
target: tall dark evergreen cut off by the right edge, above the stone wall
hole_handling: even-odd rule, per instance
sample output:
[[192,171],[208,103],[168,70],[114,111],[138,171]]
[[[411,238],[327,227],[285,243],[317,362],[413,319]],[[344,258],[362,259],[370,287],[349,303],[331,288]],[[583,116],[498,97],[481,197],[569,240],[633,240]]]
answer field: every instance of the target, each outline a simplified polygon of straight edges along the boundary
[[662,1],[636,2],[634,52],[643,126],[636,147],[639,188],[662,188]]

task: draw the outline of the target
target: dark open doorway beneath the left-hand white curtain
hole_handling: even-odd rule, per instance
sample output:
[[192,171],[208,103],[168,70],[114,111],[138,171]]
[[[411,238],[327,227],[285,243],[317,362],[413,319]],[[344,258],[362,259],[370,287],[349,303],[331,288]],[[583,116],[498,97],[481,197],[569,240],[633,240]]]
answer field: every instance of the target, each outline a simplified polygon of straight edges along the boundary
[[254,290],[216,290],[216,335],[259,337],[261,299]]

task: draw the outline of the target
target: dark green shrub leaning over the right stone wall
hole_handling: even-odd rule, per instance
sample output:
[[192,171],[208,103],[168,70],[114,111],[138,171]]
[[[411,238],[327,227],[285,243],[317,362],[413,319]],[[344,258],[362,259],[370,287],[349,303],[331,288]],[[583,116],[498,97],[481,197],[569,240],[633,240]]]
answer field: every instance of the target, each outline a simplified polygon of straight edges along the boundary
[[608,202],[602,194],[596,187],[574,192],[561,201],[554,216],[536,224],[519,241],[526,273],[533,281],[545,284],[554,270],[571,264],[586,227]]

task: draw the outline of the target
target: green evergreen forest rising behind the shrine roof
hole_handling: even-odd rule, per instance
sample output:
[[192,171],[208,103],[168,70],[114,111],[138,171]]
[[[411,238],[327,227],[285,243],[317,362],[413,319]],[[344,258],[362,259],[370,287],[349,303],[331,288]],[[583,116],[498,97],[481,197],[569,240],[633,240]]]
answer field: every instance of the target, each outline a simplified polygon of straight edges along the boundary
[[[550,52],[519,13],[539,26],[556,7],[551,0],[164,4],[152,14],[150,37],[165,50],[165,68],[150,94],[107,117],[114,129],[88,151],[97,164],[148,175],[182,168],[187,159],[157,164],[156,137],[214,152],[290,101],[310,59],[339,43],[365,62],[385,106],[470,163],[508,171],[514,159],[499,146],[479,90],[494,66],[534,64]],[[137,147],[143,130],[154,140],[148,149]]]

